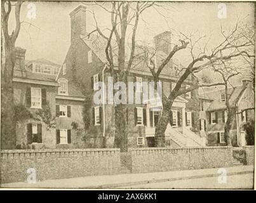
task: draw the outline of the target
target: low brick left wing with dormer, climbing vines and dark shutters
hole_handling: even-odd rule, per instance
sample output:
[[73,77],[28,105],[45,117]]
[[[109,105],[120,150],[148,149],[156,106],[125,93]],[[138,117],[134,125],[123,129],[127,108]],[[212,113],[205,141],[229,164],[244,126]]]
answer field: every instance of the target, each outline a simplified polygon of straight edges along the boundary
[[81,125],[84,98],[74,96],[77,91],[72,87],[65,92],[64,82],[57,81],[60,65],[43,58],[27,62],[25,51],[16,49],[13,72],[15,105],[20,112],[17,148],[77,147],[71,124]]

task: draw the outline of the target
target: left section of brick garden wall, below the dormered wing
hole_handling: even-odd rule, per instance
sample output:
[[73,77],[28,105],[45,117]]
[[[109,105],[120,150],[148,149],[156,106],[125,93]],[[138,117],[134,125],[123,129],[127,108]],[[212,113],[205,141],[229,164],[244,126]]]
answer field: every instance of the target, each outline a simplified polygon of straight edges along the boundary
[[36,169],[37,181],[118,174],[120,150],[56,149],[56,150],[2,150],[1,182],[27,181],[27,169]]

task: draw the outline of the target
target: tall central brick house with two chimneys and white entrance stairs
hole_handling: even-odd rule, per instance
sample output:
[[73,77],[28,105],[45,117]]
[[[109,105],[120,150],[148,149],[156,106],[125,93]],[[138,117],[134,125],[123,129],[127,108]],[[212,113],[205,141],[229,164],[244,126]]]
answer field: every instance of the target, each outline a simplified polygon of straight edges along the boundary
[[[107,87],[110,75],[105,56],[105,39],[93,34],[86,36],[86,8],[78,6],[70,13],[71,16],[71,45],[65,56],[64,64],[58,74],[58,80],[65,80],[69,86],[76,87],[76,91],[83,92],[87,97],[100,89],[98,81],[106,84],[105,94],[110,89]],[[166,56],[170,52],[170,32],[163,32],[154,37],[158,55]],[[114,46],[113,46],[114,47]],[[137,53],[135,62],[139,58]],[[114,56],[115,57],[115,56]],[[159,64],[161,57],[156,58]],[[160,75],[163,83],[163,93],[169,95],[170,90],[179,79],[177,71],[181,64],[173,60]],[[152,81],[152,75],[144,63],[133,65],[128,76],[128,81],[144,82]],[[184,85],[189,86],[192,77],[187,79]],[[142,96],[140,88],[135,88],[134,93]],[[154,145],[154,126],[156,126],[161,107],[156,111],[156,100],[147,101],[144,104],[128,105],[128,147],[152,147]],[[154,109],[154,110],[153,110]],[[115,134],[115,110],[114,105],[95,104],[91,101],[90,126],[86,136],[86,147],[100,148],[113,147]],[[205,140],[200,136],[199,130],[199,100],[198,91],[192,91],[179,96],[173,103],[173,112],[170,125],[166,129],[166,143],[172,147],[205,145]],[[105,140],[105,146],[103,145]]]

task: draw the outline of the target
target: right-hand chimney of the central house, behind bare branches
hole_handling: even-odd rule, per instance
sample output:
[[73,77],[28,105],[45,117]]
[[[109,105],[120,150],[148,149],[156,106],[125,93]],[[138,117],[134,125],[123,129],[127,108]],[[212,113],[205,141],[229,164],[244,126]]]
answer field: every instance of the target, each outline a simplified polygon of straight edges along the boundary
[[165,31],[154,37],[154,46],[157,51],[163,51],[168,55],[172,50],[172,32]]

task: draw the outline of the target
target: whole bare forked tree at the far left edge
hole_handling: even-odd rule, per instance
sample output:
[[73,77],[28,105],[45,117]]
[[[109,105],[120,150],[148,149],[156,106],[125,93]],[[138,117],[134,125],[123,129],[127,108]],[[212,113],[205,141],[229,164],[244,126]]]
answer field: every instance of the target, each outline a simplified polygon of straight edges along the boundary
[[[20,32],[20,8],[22,1],[17,3],[11,1],[1,2],[2,31],[4,36],[5,63],[1,71],[1,148],[15,148],[16,122],[15,104],[13,98],[13,69],[15,66],[15,42]],[[9,34],[8,20],[11,8],[15,8],[15,29]]]

